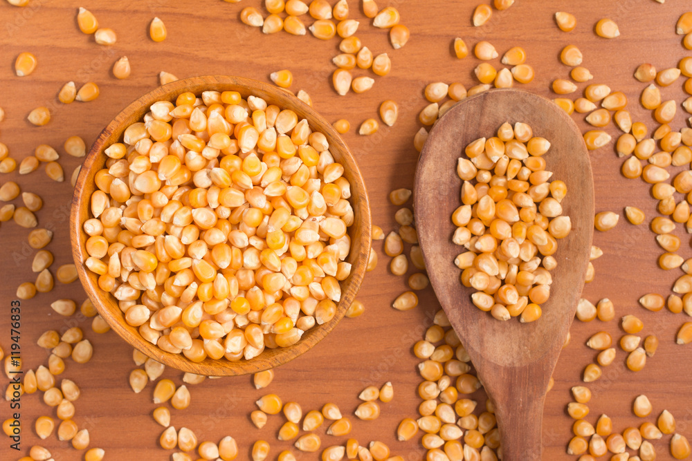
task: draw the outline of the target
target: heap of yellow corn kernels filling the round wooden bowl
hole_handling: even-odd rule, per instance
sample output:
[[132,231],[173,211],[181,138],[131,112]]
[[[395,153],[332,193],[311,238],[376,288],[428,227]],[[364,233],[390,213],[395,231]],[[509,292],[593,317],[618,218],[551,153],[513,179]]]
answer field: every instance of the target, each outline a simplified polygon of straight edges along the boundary
[[250,360],[330,321],[354,211],[325,135],[235,91],[147,116],[104,149],[83,225],[84,264],[125,321],[194,362]]

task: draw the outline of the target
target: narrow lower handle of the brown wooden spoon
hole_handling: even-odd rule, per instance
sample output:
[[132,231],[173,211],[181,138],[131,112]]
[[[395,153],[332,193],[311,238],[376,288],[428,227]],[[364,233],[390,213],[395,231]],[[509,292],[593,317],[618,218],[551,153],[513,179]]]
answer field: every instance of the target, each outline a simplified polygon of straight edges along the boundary
[[486,388],[495,402],[502,438],[502,461],[540,461],[543,403],[551,370],[539,361],[527,366],[484,370],[493,374]]

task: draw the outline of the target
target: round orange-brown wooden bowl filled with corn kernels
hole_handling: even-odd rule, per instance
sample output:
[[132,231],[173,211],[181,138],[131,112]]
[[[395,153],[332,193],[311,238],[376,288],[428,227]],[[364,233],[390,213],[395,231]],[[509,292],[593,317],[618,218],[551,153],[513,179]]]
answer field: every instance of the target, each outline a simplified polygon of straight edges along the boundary
[[[158,346],[154,346],[149,341],[146,341],[139,334],[138,328],[130,326],[125,322],[123,314],[120,308],[118,308],[117,300],[111,294],[99,288],[98,276],[84,266],[84,261],[86,261],[89,255],[84,247],[87,236],[82,230],[82,225],[85,220],[91,217],[89,216],[89,199],[96,189],[94,182],[95,174],[104,168],[107,159],[107,156],[103,153],[104,149],[115,142],[119,142],[127,126],[142,120],[145,113],[149,111],[149,106],[154,102],[163,100],[175,102],[176,97],[186,91],[196,95],[201,94],[202,91],[238,91],[244,98],[255,95],[264,98],[268,104],[276,104],[282,109],[292,109],[298,114],[299,119],[305,118],[308,120],[313,131],[320,131],[327,136],[330,146],[329,151],[334,156],[334,160],[343,164],[345,167],[344,176],[351,183],[352,195],[350,202],[354,209],[355,221],[349,227],[351,252],[346,261],[352,264],[352,271],[350,276],[341,282],[342,296],[337,305],[334,319],[311,328],[293,346],[288,348],[267,348],[260,356],[250,361],[241,359],[240,361],[231,362],[226,359],[214,360],[207,358],[204,361],[195,363],[182,354],[172,354],[159,349]],[[370,205],[368,204],[363,177],[358,170],[358,164],[356,164],[352,153],[331,124],[310,106],[281,88],[252,79],[217,75],[192,77],[166,84],[140,97],[120,112],[101,132],[98,139],[93,143],[89,154],[84,159],[82,170],[77,178],[70,216],[70,238],[72,241],[73,258],[86,294],[89,295],[89,299],[91,299],[91,302],[93,302],[101,316],[125,341],[149,357],[179,370],[210,376],[244,375],[280,366],[291,359],[295,359],[298,355],[315,346],[344,317],[346,310],[354,301],[356,293],[361,287],[367,259],[370,254]]]

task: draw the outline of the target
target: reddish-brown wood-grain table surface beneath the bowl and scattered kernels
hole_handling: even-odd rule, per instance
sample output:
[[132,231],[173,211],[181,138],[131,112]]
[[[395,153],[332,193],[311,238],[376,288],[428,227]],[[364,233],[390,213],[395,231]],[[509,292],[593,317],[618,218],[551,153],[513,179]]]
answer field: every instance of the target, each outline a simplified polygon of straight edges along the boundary
[[[384,2],[379,3],[383,6]],[[563,46],[574,44],[584,54],[583,65],[594,75],[592,82],[608,84],[614,91],[626,93],[633,120],[646,123],[650,130],[655,129],[655,122],[650,113],[637,104],[644,84],[637,82],[632,73],[643,62],[650,62],[659,69],[674,67],[680,58],[689,54],[682,47],[682,36],[675,35],[675,22],[687,6],[682,1],[659,4],[650,0],[518,0],[507,11],[495,11],[486,26],[473,28],[471,13],[475,2],[394,0],[390,5],[399,8],[401,22],[411,30],[410,42],[401,50],[392,49],[386,32],[363,21],[355,0],[349,4],[351,17],[361,20],[358,37],[374,54],[389,53],[392,72],[387,77],[376,77],[374,88],[365,94],[349,93],[339,97],[331,88],[334,66],[330,61],[338,53],[337,39],[323,42],[311,36],[294,37],[284,32],[267,36],[244,26],[238,20],[239,11],[248,5],[260,8],[259,1],[244,0],[233,4],[203,0],[192,6],[193,3],[167,0],[88,3],[30,0],[26,8],[1,2],[0,107],[6,112],[6,120],[0,123],[0,141],[7,144],[10,155],[17,160],[31,155],[37,144],[51,144],[61,154],[59,162],[65,170],[66,181],[53,182],[39,169],[28,176],[19,176],[16,171],[2,175],[0,183],[15,180],[23,191],[32,191],[44,198],[44,208],[37,216],[39,227],[55,232],[48,245],[48,250],[55,254],[52,272],[55,273],[58,265],[71,262],[67,230],[72,192],[69,177],[80,159],[64,154],[64,140],[70,135],[80,135],[91,144],[120,109],[158,85],[157,75],[161,70],[178,77],[227,74],[266,81],[274,70],[289,68],[294,75],[293,90],[306,90],[316,109],[328,120],[345,117],[351,122],[352,129],[345,140],[356,154],[366,178],[373,221],[389,232],[394,229],[393,214],[397,207],[388,202],[388,192],[397,187],[412,187],[417,161],[412,140],[419,129],[418,112],[427,104],[422,96],[424,86],[435,81],[458,81],[467,88],[475,84],[473,68],[479,62],[474,57],[462,60],[453,57],[450,45],[455,37],[464,37],[469,46],[480,39],[488,39],[500,56],[512,46],[524,47],[527,62],[536,69],[536,79],[531,84],[519,86],[546,97],[555,97],[549,89],[553,79],[568,77],[569,68],[558,61],[558,55]],[[83,35],[75,21],[79,6],[94,12],[101,26],[116,30],[118,43],[111,47],[99,46],[93,37]],[[576,30],[570,33],[558,30],[553,19],[558,10],[576,15]],[[154,16],[161,17],[167,26],[168,38],[161,44],[154,43],[147,35],[149,21]],[[594,24],[602,17],[610,17],[619,24],[620,37],[608,40],[594,35]],[[32,75],[19,78],[14,75],[12,64],[24,51],[35,53],[39,64]],[[111,75],[113,62],[122,55],[129,57],[132,66],[132,75],[126,80]],[[499,60],[493,64],[499,66]],[[365,70],[354,74],[372,75]],[[60,104],[57,92],[70,80],[78,86],[88,81],[97,82],[100,97],[94,102]],[[683,83],[684,77],[664,88],[664,100],[682,102],[686,98]],[[579,91],[583,86],[580,84]],[[385,99],[399,103],[397,124],[391,129],[382,126],[370,137],[358,135],[359,124],[367,117],[377,117],[379,104]],[[48,125],[35,127],[26,121],[26,115],[36,106],[48,106],[53,110],[53,119]],[[686,114],[679,107],[671,126],[674,129],[686,126],[685,118]],[[583,115],[575,114],[574,120],[582,129],[587,128]],[[619,135],[612,124],[607,130],[613,136]],[[621,176],[621,160],[612,145],[591,155],[597,211],[612,210],[622,214],[623,207],[635,205],[647,216],[655,216],[656,202],[648,194],[648,185]],[[579,197],[568,196],[567,200],[579,200]],[[21,200],[13,203],[19,206]],[[440,219],[448,217],[440,216]],[[678,226],[676,233],[684,242],[689,241],[682,226]],[[19,283],[35,279],[30,270],[35,250],[28,247],[27,234],[27,229],[13,222],[2,223],[0,227],[3,249],[0,255],[0,345],[6,351],[10,346],[10,301],[15,299]],[[583,296],[593,303],[603,297],[610,298],[615,305],[616,319],[625,314],[637,315],[645,323],[642,335],[657,335],[661,345],[639,373],[625,368],[626,354],[618,350],[614,364],[605,368],[598,382],[590,385],[594,396],[587,419],[595,424],[597,417],[605,413],[612,417],[616,431],[639,426],[643,420],[632,414],[631,406],[633,399],[644,393],[654,408],[648,420],[655,422],[655,417],[667,408],[677,419],[677,431],[692,438],[692,368],[689,366],[692,350],[689,346],[675,344],[675,332],[687,317],[667,310],[648,312],[637,303],[647,292],[667,296],[680,271],[664,272],[657,268],[657,257],[662,250],[657,247],[654,235],[645,225],[634,227],[624,218],[610,232],[597,232],[594,244],[603,249],[604,255],[594,261],[596,278],[586,286]],[[689,247],[683,246],[679,253],[687,258]],[[381,252],[381,242],[376,243],[375,248],[380,263],[374,272],[367,274],[363,283],[359,299],[365,303],[366,310],[362,317],[343,320],[311,352],[277,369],[275,380],[267,391],[256,391],[248,376],[207,380],[189,386],[192,404],[185,411],[172,410],[172,424],[176,428],[187,426],[194,430],[200,441],[218,442],[225,435],[233,435],[241,448],[239,459],[249,458],[251,444],[264,438],[272,447],[270,459],[275,459],[290,444],[276,440],[282,417],[270,417],[262,430],[251,424],[248,415],[255,408],[253,402],[258,397],[271,391],[284,401],[299,402],[304,411],[335,402],[345,414],[352,415],[362,388],[391,381],[395,389],[394,401],[383,405],[382,414],[375,422],[356,420],[352,436],[363,445],[370,440],[382,440],[393,453],[403,455],[406,460],[423,458],[419,437],[410,442],[397,442],[395,430],[403,417],[417,416],[420,399],[416,388],[420,377],[416,368],[418,360],[412,355],[411,347],[421,339],[424,332],[421,325],[430,324],[430,317],[439,305],[428,289],[421,294],[420,305],[415,310],[398,312],[392,309],[392,300],[404,290],[405,279],[388,272],[389,258]],[[52,292],[22,301],[21,350],[25,369],[47,364],[46,352],[36,346],[44,330],[80,326],[93,343],[93,359],[86,365],[67,359],[66,370],[60,377],[73,379],[82,388],[82,397],[75,402],[75,421],[80,427],[89,429],[91,446],[105,449],[109,460],[170,458],[170,452],[158,447],[162,428],[151,416],[156,406],[151,399],[152,384],[138,395],[129,388],[127,377],[134,368],[131,348],[113,332],[98,335],[91,331],[91,319],[78,315],[61,318],[50,308],[50,303],[56,299],[69,298],[81,303],[84,297],[78,283],[56,283]],[[572,327],[572,342],[558,362],[555,386],[545,406],[544,460],[576,458],[565,454],[572,436],[572,420],[565,408],[571,401],[570,387],[580,384],[583,368],[596,356],[585,346],[585,341],[598,330],[610,332],[615,341],[622,335],[617,321],[595,320],[588,324],[576,321]],[[164,376],[181,384],[182,373],[176,370],[166,370]],[[474,398],[481,402],[482,408],[484,395],[478,393]],[[33,431],[35,418],[55,413],[41,401],[39,393],[24,395],[21,405],[24,427],[21,452],[11,450],[8,440],[2,439],[1,459],[20,458],[28,453],[30,446],[39,442],[51,450],[55,460],[83,458],[83,453],[66,442],[59,442],[55,435],[44,441],[37,438]],[[5,420],[10,414],[9,404],[3,403],[0,408],[0,416]],[[516,424],[520,424],[519,418],[520,415]],[[325,428],[323,426],[319,433],[324,434]],[[664,436],[654,441],[657,459],[673,459],[668,451],[669,438]],[[345,438],[322,435],[322,446],[344,441]],[[306,454],[301,459],[317,458],[317,455]]]

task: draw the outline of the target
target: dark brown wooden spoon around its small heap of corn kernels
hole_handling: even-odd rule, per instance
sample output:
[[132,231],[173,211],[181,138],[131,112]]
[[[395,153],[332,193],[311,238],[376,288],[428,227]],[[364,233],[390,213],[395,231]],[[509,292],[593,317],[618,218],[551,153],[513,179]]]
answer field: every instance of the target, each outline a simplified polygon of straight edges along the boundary
[[[567,184],[563,213],[572,232],[558,241],[550,298],[532,323],[498,321],[471,303],[471,288],[454,265],[465,251],[452,243],[450,216],[461,205],[457,159],[477,138],[495,136],[504,122],[524,122],[551,142],[545,154],[551,180]],[[526,91],[491,90],[468,98],[441,117],[421,152],[415,216],[430,283],[492,397],[504,461],[540,460],[543,402],[548,381],[581,296],[594,229],[594,186],[588,152],[572,119],[556,104]]]

